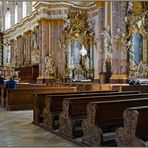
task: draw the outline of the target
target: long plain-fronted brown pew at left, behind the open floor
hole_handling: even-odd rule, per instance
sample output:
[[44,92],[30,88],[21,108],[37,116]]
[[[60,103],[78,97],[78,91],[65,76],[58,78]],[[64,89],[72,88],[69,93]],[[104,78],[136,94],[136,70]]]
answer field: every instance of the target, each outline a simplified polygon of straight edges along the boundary
[[58,93],[58,92],[75,92],[75,87],[29,87],[6,90],[7,95],[4,98],[7,110],[28,110],[33,109],[34,93]]

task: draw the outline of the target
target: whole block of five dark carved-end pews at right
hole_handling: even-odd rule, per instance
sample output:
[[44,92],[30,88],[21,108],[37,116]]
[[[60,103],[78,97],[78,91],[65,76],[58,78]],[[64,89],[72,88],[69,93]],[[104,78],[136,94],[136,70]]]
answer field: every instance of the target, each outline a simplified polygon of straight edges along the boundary
[[33,123],[81,146],[146,146],[148,93],[35,93]]

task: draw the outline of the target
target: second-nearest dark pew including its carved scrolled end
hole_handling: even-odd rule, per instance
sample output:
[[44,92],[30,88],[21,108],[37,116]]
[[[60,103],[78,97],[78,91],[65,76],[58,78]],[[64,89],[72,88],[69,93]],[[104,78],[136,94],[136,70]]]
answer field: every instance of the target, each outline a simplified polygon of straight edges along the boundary
[[[108,141],[105,140],[103,130],[114,132],[117,127],[123,124],[122,114],[126,108],[142,105],[148,105],[148,97],[89,103],[87,118],[82,122],[84,132],[82,142],[87,146],[106,145]],[[114,141],[114,139],[112,140]]]

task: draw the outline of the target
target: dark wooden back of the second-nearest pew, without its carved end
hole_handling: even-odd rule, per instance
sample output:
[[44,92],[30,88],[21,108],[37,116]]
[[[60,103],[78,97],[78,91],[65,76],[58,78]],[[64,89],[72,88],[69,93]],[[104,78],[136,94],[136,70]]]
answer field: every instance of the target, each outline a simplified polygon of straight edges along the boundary
[[123,123],[122,114],[128,107],[148,105],[147,98],[136,98],[127,100],[114,100],[114,101],[99,101],[91,102],[88,108],[95,107],[95,121],[101,128],[105,126],[118,125]]

